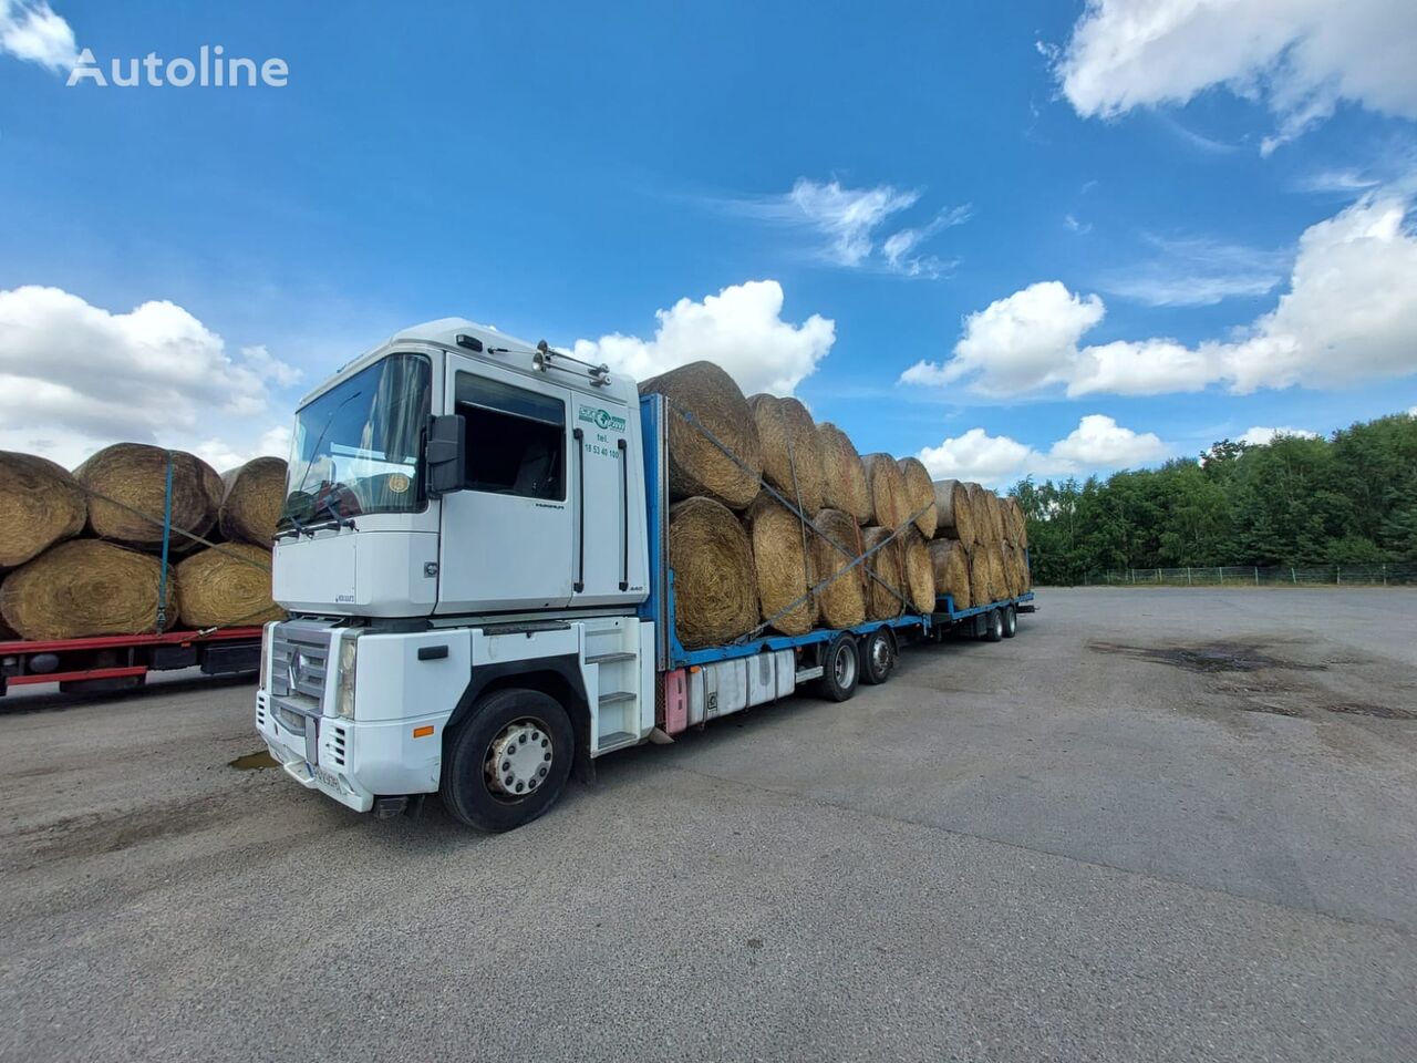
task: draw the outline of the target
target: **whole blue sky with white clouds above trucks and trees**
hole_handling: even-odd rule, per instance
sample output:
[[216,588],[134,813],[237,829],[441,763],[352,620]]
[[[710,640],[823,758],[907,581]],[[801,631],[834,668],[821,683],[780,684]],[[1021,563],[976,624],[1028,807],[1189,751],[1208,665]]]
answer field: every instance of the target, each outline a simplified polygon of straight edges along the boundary
[[[1192,9],[0,0],[0,446],[281,451],[453,315],[995,483],[1417,405],[1417,7]],[[204,44],[288,84],[67,84]]]

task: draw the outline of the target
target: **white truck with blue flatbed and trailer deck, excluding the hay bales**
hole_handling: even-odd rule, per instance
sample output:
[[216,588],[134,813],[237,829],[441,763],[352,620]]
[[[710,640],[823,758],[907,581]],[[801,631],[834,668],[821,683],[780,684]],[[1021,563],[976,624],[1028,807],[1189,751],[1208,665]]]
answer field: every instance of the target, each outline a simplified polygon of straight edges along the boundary
[[1032,594],[850,631],[674,636],[667,417],[635,381],[472,322],[393,336],[296,414],[256,729],[302,785],[506,831],[594,758],[791,694],[904,642],[1012,636]]

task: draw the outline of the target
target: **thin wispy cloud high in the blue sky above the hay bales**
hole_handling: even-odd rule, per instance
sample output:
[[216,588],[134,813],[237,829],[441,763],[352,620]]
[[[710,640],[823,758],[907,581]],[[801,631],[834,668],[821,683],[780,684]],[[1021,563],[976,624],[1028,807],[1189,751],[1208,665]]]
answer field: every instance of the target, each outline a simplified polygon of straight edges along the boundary
[[937,278],[954,264],[918,254],[942,230],[962,225],[972,207],[939,211],[925,225],[891,231],[891,220],[920,201],[920,191],[879,184],[846,189],[837,180],[798,177],[792,190],[765,200],[738,201],[733,210],[784,225],[803,227],[819,241],[816,255],[849,269]]

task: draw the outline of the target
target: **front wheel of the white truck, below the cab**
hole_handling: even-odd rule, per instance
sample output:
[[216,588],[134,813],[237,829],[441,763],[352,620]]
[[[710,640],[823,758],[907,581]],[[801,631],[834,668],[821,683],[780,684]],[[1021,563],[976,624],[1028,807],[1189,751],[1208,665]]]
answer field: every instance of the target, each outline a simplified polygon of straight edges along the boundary
[[[490,778],[495,747],[507,757],[504,778],[512,788]],[[544,775],[533,747],[550,757]],[[453,819],[468,826],[489,833],[512,831],[555,804],[574,760],[575,733],[560,702],[540,690],[495,690],[446,737],[438,795]],[[519,785],[523,792],[514,792]]]

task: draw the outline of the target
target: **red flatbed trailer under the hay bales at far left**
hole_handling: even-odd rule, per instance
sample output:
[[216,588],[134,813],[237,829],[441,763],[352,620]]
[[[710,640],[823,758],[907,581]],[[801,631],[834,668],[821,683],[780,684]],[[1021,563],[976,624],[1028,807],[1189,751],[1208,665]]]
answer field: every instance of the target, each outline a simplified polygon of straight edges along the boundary
[[205,675],[255,672],[261,628],[167,631],[79,639],[0,642],[0,697],[11,686],[58,683],[64,693],[115,693],[142,686],[149,672],[200,668]]

